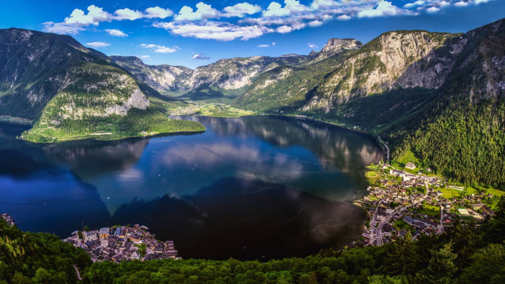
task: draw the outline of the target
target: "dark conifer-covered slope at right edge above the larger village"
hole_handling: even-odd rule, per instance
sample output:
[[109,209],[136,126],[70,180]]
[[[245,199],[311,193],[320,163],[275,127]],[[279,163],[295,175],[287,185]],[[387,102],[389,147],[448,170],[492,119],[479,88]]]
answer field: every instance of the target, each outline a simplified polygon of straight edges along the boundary
[[395,157],[412,150],[439,173],[503,187],[505,20],[472,30],[448,45],[461,42],[436,100],[424,113],[384,133]]

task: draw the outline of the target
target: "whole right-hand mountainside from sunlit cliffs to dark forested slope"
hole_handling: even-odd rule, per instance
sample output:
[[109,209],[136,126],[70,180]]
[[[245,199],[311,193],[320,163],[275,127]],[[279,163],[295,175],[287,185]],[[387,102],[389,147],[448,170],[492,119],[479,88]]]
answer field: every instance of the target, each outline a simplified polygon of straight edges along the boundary
[[454,180],[503,187],[504,25],[386,32],[264,72],[232,105],[358,125],[389,141],[396,161],[411,157]]

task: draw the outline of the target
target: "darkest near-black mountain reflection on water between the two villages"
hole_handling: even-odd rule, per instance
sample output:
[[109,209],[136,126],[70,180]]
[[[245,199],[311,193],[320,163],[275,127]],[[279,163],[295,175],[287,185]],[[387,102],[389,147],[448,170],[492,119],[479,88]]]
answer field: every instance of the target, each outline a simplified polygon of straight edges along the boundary
[[113,222],[147,224],[157,238],[174,240],[184,258],[269,259],[341,247],[361,233],[364,217],[349,203],[223,178],[192,197],[123,205]]

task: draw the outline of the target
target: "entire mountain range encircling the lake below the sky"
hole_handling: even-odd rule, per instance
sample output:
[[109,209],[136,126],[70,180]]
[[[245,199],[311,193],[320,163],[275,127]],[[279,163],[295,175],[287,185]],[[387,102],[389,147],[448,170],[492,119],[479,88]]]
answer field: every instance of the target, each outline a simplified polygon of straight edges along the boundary
[[203,130],[163,113],[185,100],[226,103],[355,125],[388,141],[394,160],[412,157],[455,180],[504,186],[504,44],[500,20],[464,34],[332,38],[309,55],[221,59],[191,70],[7,29],[0,116],[32,121],[25,139],[53,141],[160,133],[167,121],[171,131]]

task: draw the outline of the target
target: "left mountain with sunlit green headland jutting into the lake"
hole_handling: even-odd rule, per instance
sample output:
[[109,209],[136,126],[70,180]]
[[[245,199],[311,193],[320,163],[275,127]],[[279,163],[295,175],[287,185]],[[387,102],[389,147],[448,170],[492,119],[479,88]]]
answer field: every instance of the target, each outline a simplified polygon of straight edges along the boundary
[[138,83],[107,56],[68,35],[0,30],[0,116],[31,121],[21,138],[49,142],[122,138],[203,130],[172,121]]

